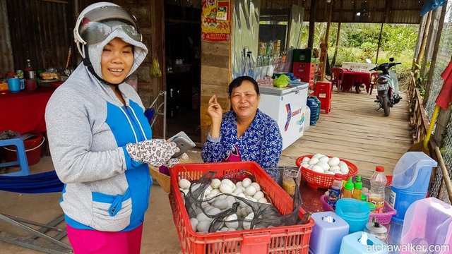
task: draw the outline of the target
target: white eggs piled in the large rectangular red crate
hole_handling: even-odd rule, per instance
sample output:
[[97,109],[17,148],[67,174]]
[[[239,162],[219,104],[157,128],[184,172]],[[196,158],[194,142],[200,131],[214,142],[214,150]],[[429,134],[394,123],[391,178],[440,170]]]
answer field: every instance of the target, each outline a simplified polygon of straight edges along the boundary
[[[193,192],[199,186],[200,183],[194,183],[192,185],[187,179],[179,180],[179,190],[185,195],[189,192],[190,188]],[[206,201],[201,202],[202,209],[201,207],[196,207],[196,217],[190,218],[191,229],[199,233],[208,233],[210,224],[213,222],[213,217],[220,212],[230,209],[235,202],[239,202],[237,213],[226,217],[224,219],[225,223],[218,231],[250,229],[251,220],[254,219],[253,209],[246,202],[235,197],[269,204],[268,200],[264,197],[264,193],[261,191],[261,186],[249,178],[245,178],[237,183],[233,183],[230,179],[213,179],[210,181],[210,186],[204,191],[203,200]],[[212,218],[208,217],[205,212],[211,215]],[[239,224],[239,220],[243,221],[243,223]]]

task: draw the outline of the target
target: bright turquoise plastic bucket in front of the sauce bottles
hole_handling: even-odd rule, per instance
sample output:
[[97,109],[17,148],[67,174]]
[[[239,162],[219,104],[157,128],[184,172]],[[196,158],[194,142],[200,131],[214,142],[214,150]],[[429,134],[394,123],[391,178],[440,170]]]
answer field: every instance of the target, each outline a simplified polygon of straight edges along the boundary
[[363,231],[369,221],[370,207],[360,200],[341,198],[336,202],[335,211],[349,224],[349,234]]

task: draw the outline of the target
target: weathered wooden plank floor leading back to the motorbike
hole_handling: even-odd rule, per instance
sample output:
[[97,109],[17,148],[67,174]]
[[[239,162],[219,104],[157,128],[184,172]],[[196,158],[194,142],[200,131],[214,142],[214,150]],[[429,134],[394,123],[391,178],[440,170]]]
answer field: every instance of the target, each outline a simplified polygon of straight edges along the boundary
[[279,165],[293,167],[297,157],[320,152],[349,160],[365,177],[376,165],[392,175],[398,159],[412,145],[407,95],[401,92],[403,99],[389,116],[383,109],[376,111],[375,95],[376,90],[369,95],[334,89],[331,112],[321,111],[316,126],[283,151]]

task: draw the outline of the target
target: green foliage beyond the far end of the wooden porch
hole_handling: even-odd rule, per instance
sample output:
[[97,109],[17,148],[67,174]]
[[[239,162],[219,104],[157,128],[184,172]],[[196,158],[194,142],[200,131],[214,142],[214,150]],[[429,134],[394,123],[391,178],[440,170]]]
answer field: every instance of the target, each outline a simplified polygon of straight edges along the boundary
[[[410,80],[413,49],[417,41],[417,30],[419,25],[407,24],[384,24],[381,32],[381,46],[378,63],[387,62],[390,57],[402,63],[393,68],[396,71],[400,87]],[[309,35],[309,23],[304,23],[302,31],[301,48],[307,47]],[[381,24],[368,23],[343,23],[340,27],[340,39],[336,66],[342,65],[343,61],[362,62],[366,59],[376,61],[376,52],[379,45]],[[325,36],[326,23],[316,23],[314,47],[319,48],[320,40]],[[328,55],[331,59],[335,52],[336,35],[338,23],[332,23],[328,39]],[[451,44],[452,45],[452,44]]]

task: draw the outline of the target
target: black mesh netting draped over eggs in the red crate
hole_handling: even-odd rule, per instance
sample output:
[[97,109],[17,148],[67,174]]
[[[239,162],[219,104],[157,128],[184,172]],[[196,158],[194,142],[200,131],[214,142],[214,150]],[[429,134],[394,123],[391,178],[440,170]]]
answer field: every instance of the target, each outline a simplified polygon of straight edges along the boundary
[[[212,233],[217,231],[234,231],[242,229],[262,229],[271,226],[287,226],[305,224],[307,219],[299,218],[299,209],[302,205],[299,187],[296,186],[294,197],[294,210],[283,215],[274,205],[265,202],[254,202],[237,194],[219,193],[210,195],[210,183],[216,172],[209,171],[198,181],[191,183],[185,195],[185,207],[191,218],[191,226],[199,233]],[[249,176],[254,178],[253,176]],[[241,179],[230,179],[237,183]],[[209,188],[210,186],[210,188]],[[237,187],[239,188],[239,187]],[[209,191],[208,191],[209,190]],[[208,191],[208,195],[206,195]],[[220,209],[221,208],[221,209]]]

